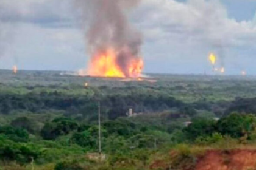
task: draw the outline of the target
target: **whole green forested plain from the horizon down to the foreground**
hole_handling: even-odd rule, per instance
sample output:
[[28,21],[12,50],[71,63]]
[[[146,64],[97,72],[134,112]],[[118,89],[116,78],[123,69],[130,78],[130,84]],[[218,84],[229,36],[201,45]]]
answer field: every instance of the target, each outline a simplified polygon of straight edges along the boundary
[[[191,169],[207,147],[254,145],[255,102],[249,76],[137,81],[1,70],[0,169],[154,169],[159,159]],[[102,161],[88,158],[99,151],[98,103]]]

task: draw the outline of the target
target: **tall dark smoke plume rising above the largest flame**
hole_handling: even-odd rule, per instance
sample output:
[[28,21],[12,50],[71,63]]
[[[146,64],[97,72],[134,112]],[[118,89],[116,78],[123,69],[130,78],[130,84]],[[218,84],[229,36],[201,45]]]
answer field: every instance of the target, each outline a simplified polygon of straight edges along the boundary
[[87,44],[91,55],[112,47],[118,54],[116,63],[128,73],[130,60],[138,58],[141,33],[129,23],[128,13],[140,0],[76,0],[76,7],[87,29]]

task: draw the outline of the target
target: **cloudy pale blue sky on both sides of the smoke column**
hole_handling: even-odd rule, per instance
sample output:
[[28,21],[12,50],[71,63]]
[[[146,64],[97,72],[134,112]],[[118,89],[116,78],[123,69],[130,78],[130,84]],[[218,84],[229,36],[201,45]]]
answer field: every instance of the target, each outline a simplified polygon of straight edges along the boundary
[[[0,69],[85,68],[85,31],[71,1],[1,0]],[[256,0],[141,0],[130,21],[144,36],[144,72],[211,73],[214,52],[227,74],[256,75],[255,13]]]

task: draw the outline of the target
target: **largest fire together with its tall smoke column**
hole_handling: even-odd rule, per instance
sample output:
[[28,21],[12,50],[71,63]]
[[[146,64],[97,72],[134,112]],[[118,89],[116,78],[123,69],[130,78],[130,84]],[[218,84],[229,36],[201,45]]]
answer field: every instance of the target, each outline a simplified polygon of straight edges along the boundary
[[95,77],[139,78],[144,62],[141,58],[141,33],[129,22],[127,12],[140,0],[77,0],[83,19],[90,21],[87,47],[90,61],[79,75]]

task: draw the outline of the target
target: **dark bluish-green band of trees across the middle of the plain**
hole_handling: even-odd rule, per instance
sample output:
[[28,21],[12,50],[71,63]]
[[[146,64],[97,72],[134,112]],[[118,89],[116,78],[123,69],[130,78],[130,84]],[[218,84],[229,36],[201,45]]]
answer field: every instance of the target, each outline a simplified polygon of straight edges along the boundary
[[135,112],[160,112],[173,107],[183,107],[182,101],[169,95],[95,95],[70,96],[60,92],[41,92],[40,94],[0,94],[1,114],[10,114],[14,110],[40,112],[41,110],[64,110],[70,114],[91,115],[96,112],[98,101],[101,102],[102,111],[110,119],[126,115],[129,108]]

